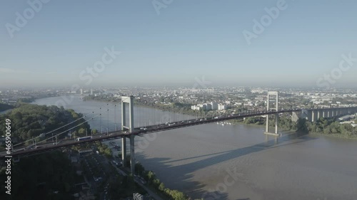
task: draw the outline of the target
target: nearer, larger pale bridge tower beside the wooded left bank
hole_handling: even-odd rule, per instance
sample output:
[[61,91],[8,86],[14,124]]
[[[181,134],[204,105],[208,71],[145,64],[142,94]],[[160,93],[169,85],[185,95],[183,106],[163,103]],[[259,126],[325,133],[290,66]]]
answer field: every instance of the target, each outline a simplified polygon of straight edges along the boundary
[[[129,105],[129,126],[126,125],[126,105]],[[121,97],[121,130],[128,130],[129,133],[134,130],[134,96]],[[134,174],[135,155],[134,155],[134,135],[129,136],[130,139],[130,165],[131,173]],[[121,139],[121,159],[123,166],[126,167],[126,137]]]

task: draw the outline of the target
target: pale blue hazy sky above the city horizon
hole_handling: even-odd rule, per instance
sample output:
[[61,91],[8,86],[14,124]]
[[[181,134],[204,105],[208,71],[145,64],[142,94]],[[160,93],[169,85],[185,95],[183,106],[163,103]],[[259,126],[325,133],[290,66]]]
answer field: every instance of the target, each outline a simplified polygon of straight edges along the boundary
[[357,82],[356,0],[39,2],[0,2],[1,86]]

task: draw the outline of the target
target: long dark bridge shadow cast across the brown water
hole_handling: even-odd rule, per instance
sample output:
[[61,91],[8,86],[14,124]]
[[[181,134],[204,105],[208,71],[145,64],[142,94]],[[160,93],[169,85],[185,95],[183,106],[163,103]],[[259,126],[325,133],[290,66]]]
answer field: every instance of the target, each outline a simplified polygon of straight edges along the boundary
[[[297,141],[296,141],[297,140]],[[251,154],[255,152],[261,152],[266,149],[283,147],[289,144],[297,144],[300,142],[307,142],[310,140],[316,140],[316,138],[308,137],[307,135],[302,135],[299,133],[293,133],[288,135],[283,135],[279,137],[278,143],[275,140],[268,140],[268,142],[261,142],[254,144],[249,147],[243,147],[239,149],[233,149],[225,152],[217,152],[213,154],[205,154],[196,157],[188,157],[185,159],[170,160],[170,158],[146,158],[143,153],[136,154],[137,159],[145,160],[146,164],[155,163],[156,169],[153,169],[156,174],[165,174],[165,178],[170,180],[170,185],[180,186],[178,189],[180,191],[188,191],[189,196],[192,199],[228,199],[227,193],[222,193],[220,191],[206,191],[203,189],[206,185],[201,184],[198,181],[192,181],[193,173],[198,169],[203,169],[215,164],[220,164],[231,159],[236,159],[242,157],[246,154]],[[208,157],[213,156],[213,157]],[[190,162],[188,164],[181,164],[178,166],[170,166],[173,162],[208,157],[206,159],[201,159],[196,162]],[[159,167],[158,167],[159,166]],[[179,172],[176,174],[175,172]],[[160,177],[160,175],[158,175]],[[167,183],[169,184],[169,183]],[[250,200],[250,198],[235,199],[235,200]]]

